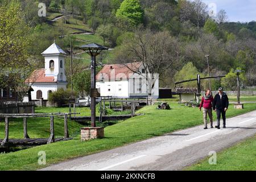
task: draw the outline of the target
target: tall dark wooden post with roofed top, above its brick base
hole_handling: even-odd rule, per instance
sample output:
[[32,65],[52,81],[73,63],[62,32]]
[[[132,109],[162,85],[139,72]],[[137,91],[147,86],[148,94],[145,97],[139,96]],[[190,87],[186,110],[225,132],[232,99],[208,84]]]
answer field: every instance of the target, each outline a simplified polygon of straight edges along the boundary
[[90,100],[91,100],[91,126],[96,127],[96,97],[97,97],[97,89],[96,89],[96,56],[100,54],[103,50],[108,50],[107,47],[101,46],[96,43],[86,44],[79,47],[84,50],[88,55],[91,56],[90,61]]

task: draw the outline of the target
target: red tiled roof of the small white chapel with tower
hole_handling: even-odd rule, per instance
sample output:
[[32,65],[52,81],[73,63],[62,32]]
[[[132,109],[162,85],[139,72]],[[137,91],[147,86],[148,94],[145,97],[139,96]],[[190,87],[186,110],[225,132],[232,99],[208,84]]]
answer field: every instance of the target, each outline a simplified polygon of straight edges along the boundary
[[44,69],[35,70],[29,78],[25,81],[26,83],[42,83],[42,82],[56,82],[53,76],[46,76]]

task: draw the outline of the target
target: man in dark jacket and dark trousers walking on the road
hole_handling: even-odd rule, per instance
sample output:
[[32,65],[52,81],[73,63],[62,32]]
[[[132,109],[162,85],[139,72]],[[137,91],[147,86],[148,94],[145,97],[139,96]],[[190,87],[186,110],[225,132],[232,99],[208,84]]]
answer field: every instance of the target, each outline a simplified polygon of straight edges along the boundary
[[213,100],[213,110],[217,112],[217,126],[216,129],[220,129],[220,117],[223,119],[223,128],[226,128],[226,110],[229,107],[229,98],[222,88],[218,89],[218,94]]

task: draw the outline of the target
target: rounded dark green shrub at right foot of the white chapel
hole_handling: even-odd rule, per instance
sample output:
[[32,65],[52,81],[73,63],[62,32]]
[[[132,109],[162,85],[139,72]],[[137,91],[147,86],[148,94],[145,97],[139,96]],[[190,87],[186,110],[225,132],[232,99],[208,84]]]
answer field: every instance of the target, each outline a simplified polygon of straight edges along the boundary
[[71,101],[75,101],[76,96],[76,92],[60,88],[57,89],[56,92],[49,94],[49,102],[54,104],[56,107],[63,107],[63,105],[68,104]]

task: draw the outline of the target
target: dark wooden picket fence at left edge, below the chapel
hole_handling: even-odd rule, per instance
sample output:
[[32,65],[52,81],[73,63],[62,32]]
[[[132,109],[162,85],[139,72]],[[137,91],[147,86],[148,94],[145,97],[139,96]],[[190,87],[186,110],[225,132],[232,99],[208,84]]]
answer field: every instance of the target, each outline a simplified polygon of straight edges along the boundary
[[0,103],[0,113],[23,114],[35,113],[34,102],[2,102]]

